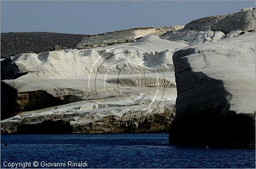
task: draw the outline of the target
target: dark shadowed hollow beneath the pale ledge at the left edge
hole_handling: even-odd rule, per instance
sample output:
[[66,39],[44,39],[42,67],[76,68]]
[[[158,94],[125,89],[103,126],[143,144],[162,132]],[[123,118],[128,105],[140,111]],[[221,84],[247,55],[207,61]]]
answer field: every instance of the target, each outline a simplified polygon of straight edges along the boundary
[[[78,91],[82,94],[81,91]],[[79,94],[80,94],[79,93]],[[67,94],[53,96],[45,90],[17,92],[1,81],[1,120],[10,118],[16,112],[35,110],[83,100],[80,95]]]

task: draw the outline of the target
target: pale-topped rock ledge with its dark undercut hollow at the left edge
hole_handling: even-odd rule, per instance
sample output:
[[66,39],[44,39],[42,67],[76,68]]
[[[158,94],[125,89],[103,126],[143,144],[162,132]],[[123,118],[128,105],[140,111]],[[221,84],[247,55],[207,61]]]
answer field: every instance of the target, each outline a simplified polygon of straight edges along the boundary
[[14,112],[40,109],[89,98],[89,93],[79,89],[59,88],[23,80],[1,81],[1,118],[13,116]]

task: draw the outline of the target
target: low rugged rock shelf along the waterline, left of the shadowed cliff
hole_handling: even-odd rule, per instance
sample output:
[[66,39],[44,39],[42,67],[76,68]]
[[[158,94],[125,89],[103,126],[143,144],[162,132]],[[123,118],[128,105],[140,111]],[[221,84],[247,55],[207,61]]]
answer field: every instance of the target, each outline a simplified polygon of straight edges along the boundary
[[[64,106],[64,107],[63,107]],[[167,131],[175,105],[165,101],[121,106],[108,102],[63,105],[2,120],[1,133],[116,133]]]

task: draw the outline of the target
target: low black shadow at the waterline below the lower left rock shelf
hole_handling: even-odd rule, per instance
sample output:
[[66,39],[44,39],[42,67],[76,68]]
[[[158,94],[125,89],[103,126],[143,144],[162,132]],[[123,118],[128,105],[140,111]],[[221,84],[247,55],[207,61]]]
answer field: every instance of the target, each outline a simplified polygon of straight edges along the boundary
[[73,127],[66,120],[46,120],[38,124],[24,124],[17,127],[18,134],[71,134]]

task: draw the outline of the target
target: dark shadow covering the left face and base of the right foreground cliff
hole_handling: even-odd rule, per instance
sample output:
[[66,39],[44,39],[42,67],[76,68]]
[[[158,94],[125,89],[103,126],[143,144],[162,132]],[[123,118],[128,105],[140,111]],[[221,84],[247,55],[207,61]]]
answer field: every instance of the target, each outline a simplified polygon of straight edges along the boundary
[[[174,53],[178,97],[169,142],[196,147],[255,147],[255,116],[230,111],[223,82],[193,72],[185,56],[194,49]],[[176,60],[176,62],[175,62]]]

